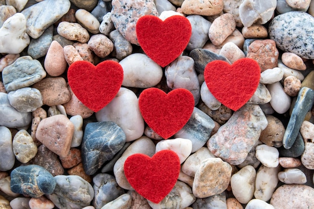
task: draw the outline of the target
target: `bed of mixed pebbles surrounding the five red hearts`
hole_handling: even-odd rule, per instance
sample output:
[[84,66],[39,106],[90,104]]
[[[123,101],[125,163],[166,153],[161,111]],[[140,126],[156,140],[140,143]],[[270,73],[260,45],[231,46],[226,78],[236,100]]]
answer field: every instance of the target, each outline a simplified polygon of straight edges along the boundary
[[[186,50],[165,68],[138,45],[144,15],[191,23]],[[312,16],[310,0],[0,0],[0,208],[314,208]],[[204,68],[245,57],[259,64],[260,83],[232,111],[208,90]],[[79,60],[123,68],[117,96],[96,113],[67,84]],[[194,96],[170,139],[139,111],[150,87]],[[163,149],[181,171],[153,203],[123,163]]]

